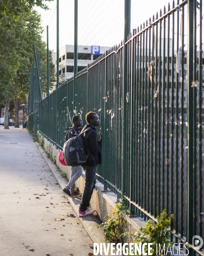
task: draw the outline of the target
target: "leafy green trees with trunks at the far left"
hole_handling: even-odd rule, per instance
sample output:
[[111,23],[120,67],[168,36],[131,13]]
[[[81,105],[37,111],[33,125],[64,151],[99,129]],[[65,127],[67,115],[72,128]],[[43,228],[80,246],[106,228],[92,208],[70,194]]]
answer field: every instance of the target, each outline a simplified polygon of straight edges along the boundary
[[[45,1],[50,2],[52,0]],[[40,23],[34,21],[32,8],[40,6],[42,9],[48,9],[48,6],[43,2],[43,0],[0,0],[0,93],[2,95],[1,102],[5,105],[6,116],[8,116],[6,106],[9,104],[11,97],[14,97],[15,102],[17,102],[21,87],[27,85],[29,87],[29,82],[25,84],[18,83],[19,78],[24,79],[24,81],[28,80],[29,76],[24,71],[31,68],[31,54],[28,54],[28,58],[26,57],[28,47],[26,49],[22,43],[24,39],[29,39],[29,29],[33,25],[32,33],[35,33],[32,39],[35,40],[30,41],[30,43],[41,41],[42,27]],[[29,18],[30,20],[28,20]],[[32,18],[34,22],[32,22]],[[39,15],[37,19],[40,22]],[[27,38],[23,38],[23,35],[26,35]],[[28,40],[25,41],[28,43]],[[31,46],[31,44],[29,45]],[[29,52],[31,52],[31,49],[32,46]],[[23,68],[25,68],[24,71]],[[25,92],[28,92],[28,87]],[[18,117],[18,107],[16,112],[16,117]],[[8,128],[7,125],[4,128]]]

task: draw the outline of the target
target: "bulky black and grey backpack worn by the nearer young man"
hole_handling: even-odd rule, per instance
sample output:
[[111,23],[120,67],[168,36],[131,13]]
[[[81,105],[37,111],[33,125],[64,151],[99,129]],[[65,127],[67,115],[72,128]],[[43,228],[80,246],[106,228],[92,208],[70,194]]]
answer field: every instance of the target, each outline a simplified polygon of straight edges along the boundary
[[68,166],[82,166],[86,163],[90,152],[86,152],[84,138],[81,134],[91,130],[89,127],[82,133],[74,134],[74,137],[67,140],[63,146],[63,157]]

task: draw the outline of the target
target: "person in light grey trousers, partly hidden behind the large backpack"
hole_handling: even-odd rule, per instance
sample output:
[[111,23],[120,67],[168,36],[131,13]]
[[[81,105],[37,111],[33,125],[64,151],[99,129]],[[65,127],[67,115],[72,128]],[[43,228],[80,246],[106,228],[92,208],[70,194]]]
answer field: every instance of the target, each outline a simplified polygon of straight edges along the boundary
[[[73,116],[72,122],[74,126],[68,129],[65,140],[69,140],[70,138],[74,137],[74,134],[80,134],[79,127],[83,125],[81,117]],[[62,189],[62,192],[65,195],[67,195],[70,198],[75,198],[77,196],[82,195],[82,193],[75,191],[75,182],[82,175],[82,173],[83,173],[83,169],[81,166],[71,167],[71,175],[70,175],[69,183],[65,186],[64,189]]]

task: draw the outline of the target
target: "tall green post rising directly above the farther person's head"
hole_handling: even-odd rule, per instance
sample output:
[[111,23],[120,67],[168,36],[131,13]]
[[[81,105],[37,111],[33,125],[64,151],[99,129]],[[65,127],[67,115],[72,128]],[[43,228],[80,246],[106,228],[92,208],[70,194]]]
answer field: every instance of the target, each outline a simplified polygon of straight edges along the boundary
[[73,104],[73,110],[76,111],[75,114],[77,114],[76,109],[76,74],[77,74],[77,59],[78,59],[78,0],[74,0],[74,104]]

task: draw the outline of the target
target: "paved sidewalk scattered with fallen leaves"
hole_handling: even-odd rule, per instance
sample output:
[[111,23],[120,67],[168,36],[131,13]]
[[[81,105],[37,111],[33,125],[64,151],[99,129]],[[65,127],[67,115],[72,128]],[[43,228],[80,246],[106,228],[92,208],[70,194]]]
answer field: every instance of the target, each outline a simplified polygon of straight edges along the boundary
[[[1,125],[0,255],[86,256],[93,253],[90,248],[93,242],[56,183],[28,131],[4,130]],[[64,216],[70,214],[74,216]],[[65,220],[54,220],[59,217]]]

